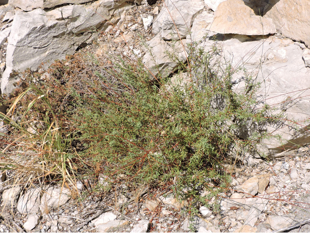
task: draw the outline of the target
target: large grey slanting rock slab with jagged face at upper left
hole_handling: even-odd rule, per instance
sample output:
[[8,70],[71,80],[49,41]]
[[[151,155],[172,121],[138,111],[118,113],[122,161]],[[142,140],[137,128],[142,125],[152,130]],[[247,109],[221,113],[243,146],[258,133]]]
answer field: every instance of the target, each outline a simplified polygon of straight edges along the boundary
[[[23,1],[31,4],[31,1]],[[27,2],[27,3],[26,3]],[[41,1],[36,1],[39,4]],[[40,3],[41,4],[41,3]],[[130,7],[125,0],[99,0],[90,5],[66,5],[51,11],[35,9],[16,12],[8,37],[6,69],[1,92],[10,94],[17,78],[12,70],[47,68],[54,60],[74,54],[82,43],[89,43],[92,31],[103,27],[114,14]]]

